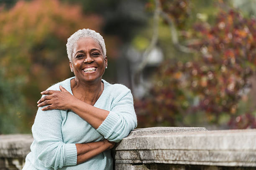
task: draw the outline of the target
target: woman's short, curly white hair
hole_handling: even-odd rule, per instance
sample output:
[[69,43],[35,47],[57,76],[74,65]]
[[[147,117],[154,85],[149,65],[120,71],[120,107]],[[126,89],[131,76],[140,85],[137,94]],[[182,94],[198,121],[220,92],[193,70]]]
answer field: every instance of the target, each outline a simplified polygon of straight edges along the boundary
[[107,50],[105,46],[105,41],[103,37],[100,35],[100,33],[96,32],[95,30],[84,28],[72,34],[67,40],[66,46],[67,46],[67,55],[68,55],[69,61],[72,61],[72,53],[74,52],[74,45],[82,37],[90,37],[96,40],[103,51],[104,57],[106,57]]

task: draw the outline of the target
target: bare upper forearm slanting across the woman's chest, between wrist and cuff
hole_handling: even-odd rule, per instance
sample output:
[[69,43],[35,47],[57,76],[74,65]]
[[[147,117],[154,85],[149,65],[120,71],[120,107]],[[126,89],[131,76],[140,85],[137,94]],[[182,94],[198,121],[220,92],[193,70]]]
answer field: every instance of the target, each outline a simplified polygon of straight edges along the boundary
[[82,117],[82,119],[87,121],[95,129],[97,129],[102,124],[102,122],[109,114],[109,111],[99,109],[81,100],[72,102],[69,109]]

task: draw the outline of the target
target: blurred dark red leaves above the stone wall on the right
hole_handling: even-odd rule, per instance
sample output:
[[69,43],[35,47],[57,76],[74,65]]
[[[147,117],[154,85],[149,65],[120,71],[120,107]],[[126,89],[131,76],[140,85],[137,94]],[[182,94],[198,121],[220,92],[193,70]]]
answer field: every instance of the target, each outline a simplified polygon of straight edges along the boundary
[[[193,28],[193,38],[198,41],[190,47],[200,57],[188,62],[164,61],[150,97],[142,100],[147,117],[164,117],[160,124],[172,117],[174,121],[168,125],[175,126],[185,124],[176,117],[204,112],[208,122],[218,124],[225,113],[230,128],[255,128],[252,111],[238,112],[241,96],[247,95],[245,89],[250,86],[248,78],[256,69],[255,20],[243,18],[236,10],[221,11],[214,25],[196,23]],[[140,115],[139,106],[137,112]]]

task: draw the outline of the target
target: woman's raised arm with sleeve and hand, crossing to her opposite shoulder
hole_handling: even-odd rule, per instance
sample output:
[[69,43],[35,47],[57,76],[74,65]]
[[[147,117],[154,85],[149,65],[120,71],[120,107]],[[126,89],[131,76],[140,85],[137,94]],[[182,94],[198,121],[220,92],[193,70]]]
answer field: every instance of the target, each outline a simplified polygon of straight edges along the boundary
[[46,96],[38,101],[38,107],[47,105],[42,110],[72,110],[92,125],[105,139],[119,142],[136,128],[137,118],[131,91],[122,85],[116,88],[119,88],[120,94],[116,95],[110,111],[82,102],[61,86],[61,91],[42,92],[41,94]]

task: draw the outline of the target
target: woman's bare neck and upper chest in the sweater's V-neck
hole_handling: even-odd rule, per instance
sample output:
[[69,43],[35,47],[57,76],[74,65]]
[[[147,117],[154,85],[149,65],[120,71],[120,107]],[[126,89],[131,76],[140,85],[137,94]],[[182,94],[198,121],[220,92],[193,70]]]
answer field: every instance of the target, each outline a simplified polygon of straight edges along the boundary
[[95,82],[82,82],[77,78],[71,80],[71,90],[75,97],[90,105],[94,105],[103,92],[104,85],[100,80]]

